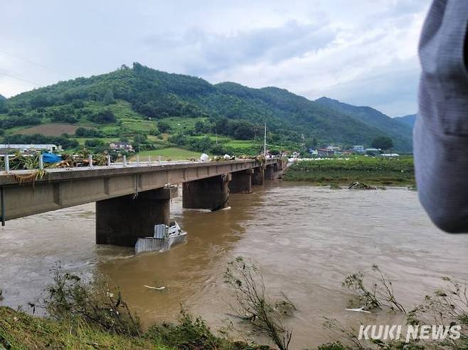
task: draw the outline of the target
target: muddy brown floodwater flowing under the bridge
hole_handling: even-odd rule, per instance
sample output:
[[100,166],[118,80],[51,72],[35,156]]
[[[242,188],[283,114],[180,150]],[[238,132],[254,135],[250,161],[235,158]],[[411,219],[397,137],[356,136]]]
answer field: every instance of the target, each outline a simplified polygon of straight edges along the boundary
[[1,304],[33,301],[60,261],[68,270],[107,275],[146,325],[176,319],[183,304],[212,329],[230,321],[248,332],[229,316],[223,283],[228,262],[242,255],[261,265],[270,295],[284,292],[296,305],[286,324],[294,329],[292,349],[303,349],[333,338],[323,327],[325,317],[354,326],[388,324],[385,314],[346,311],[349,293],[341,282],[352,272],[378,264],[407,307],[440,287],[442,276],[462,282],[468,277],[468,235],[432,226],[415,191],[338,191],[272,182],[231,195],[230,207],[215,213],[186,210],[179,196],[171,215],[188,232],[188,242],[139,256],[131,248],[95,245],[93,203],[8,221],[0,230]]

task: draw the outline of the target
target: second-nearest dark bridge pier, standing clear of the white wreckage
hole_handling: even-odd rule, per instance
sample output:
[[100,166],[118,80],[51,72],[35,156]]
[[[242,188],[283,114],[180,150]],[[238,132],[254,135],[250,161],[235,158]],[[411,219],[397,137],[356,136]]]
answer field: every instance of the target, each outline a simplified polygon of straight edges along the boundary
[[228,206],[230,174],[184,182],[182,206],[216,211]]

